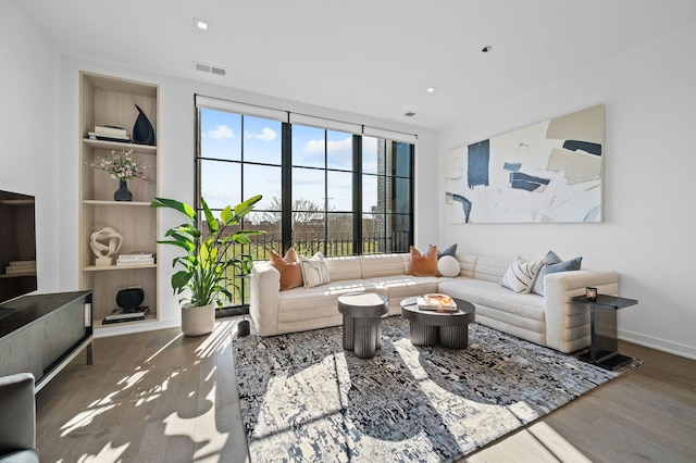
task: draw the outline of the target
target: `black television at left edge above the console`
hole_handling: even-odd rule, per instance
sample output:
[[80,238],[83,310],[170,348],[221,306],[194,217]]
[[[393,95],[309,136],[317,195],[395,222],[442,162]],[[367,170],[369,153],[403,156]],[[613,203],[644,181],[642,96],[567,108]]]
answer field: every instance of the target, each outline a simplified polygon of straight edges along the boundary
[[35,198],[0,190],[0,303],[36,289]]

